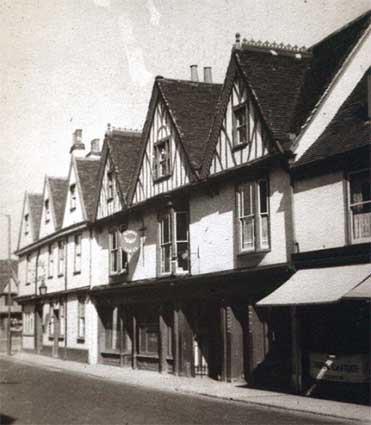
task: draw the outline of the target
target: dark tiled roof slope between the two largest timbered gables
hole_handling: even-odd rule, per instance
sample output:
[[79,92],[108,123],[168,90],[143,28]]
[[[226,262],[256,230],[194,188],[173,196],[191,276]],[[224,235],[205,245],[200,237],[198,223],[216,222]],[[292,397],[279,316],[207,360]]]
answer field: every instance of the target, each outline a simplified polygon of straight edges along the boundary
[[198,170],[202,165],[222,85],[167,78],[156,81],[190,164]]

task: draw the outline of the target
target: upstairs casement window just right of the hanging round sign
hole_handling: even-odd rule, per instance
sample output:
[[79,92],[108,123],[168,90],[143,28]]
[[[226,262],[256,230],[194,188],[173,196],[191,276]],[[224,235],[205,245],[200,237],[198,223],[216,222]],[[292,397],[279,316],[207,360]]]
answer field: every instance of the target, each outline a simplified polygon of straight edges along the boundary
[[160,216],[160,273],[189,271],[188,213],[169,210]]

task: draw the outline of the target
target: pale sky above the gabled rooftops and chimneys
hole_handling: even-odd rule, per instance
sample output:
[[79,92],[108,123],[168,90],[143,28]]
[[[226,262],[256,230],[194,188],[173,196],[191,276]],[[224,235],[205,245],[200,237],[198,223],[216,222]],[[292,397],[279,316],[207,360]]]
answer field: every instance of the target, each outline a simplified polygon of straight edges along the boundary
[[223,82],[235,33],[311,46],[369,0],[1,0],[0,258],[16,249],[25,191],[67,176],[72,133],[141,129],[156,75]]

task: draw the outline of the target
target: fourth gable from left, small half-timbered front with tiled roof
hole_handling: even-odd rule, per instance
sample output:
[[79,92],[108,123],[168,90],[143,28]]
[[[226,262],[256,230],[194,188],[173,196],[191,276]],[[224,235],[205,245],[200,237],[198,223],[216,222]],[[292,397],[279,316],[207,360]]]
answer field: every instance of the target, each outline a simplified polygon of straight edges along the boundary
[[96,218],[121,211],[137,166],[141,133],[114,129],[106,133],[98,175]]

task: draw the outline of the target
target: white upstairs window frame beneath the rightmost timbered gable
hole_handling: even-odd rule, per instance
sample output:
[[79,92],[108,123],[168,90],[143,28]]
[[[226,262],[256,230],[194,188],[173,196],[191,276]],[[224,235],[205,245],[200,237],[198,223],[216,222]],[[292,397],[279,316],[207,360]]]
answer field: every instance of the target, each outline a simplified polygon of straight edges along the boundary
[[[261,184],[266,187],[266,211],[261,210]],[[244,211],[244,191],[245,186],[249,187],[250,192],[250,212],[247,214]],[[271,247],[270,237],[270,210],[269,199],[270,189],[267,178],[246,181],[238,185],[236,190],[237,196],[237,226],[238,226],[238,247],[240,253],[249,252],[265,252]],[[250,243],[244,242],[244,226],[247,223],[252,226],[252,238]],[[266,222],[265,232],[263,231],[264,222]],[[263,233],[266,234],[264,238]]]

